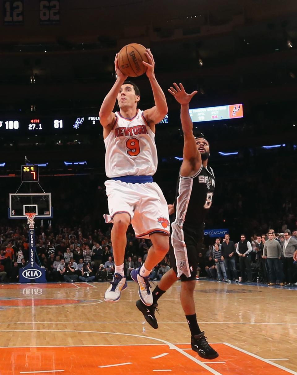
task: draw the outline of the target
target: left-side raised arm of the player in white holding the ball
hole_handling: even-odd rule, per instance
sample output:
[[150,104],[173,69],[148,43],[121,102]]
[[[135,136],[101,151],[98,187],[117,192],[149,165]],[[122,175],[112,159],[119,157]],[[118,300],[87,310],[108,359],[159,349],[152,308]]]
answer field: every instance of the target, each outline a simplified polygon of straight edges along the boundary
[[115,114],[113,113],[113,109],[115,101],[117,100],[117,95],[121,88],[121,85],[127,78],[127,76],[124,75],[118,68],[118,54],[115,55],[114,66],[117,80],[115,81],[110,92],[107,94],[107,96],[105,96],[99,111],[100,123],[103,127],[107,127],[108,125],[114,123]]

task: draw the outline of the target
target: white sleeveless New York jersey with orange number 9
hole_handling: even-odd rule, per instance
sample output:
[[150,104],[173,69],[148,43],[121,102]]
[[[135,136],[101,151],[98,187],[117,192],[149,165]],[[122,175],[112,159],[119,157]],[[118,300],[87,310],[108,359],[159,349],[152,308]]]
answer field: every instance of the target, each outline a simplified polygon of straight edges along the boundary
[[130,120],[115,113],[114,127],[104,139],[107,177],[155,174],[158,165],[154,132],[147,125],[143,111]]

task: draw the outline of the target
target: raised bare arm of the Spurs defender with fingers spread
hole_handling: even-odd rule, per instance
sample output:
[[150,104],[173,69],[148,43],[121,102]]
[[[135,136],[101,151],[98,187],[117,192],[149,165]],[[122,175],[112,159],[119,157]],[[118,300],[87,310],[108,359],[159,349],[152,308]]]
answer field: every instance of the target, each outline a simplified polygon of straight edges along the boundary
[[183,159],[196,162],[198,158],[200,158],[199,161],[201,161],[201,155],[197,150],[195,137],[193,135],[193,123],[189,114],[189,102],[197,91],[187,94],[181,83],[179,86],[176,83],[173,85],[174,87],[171,86],[168,91],[180,104],[180,121],[184,134]]

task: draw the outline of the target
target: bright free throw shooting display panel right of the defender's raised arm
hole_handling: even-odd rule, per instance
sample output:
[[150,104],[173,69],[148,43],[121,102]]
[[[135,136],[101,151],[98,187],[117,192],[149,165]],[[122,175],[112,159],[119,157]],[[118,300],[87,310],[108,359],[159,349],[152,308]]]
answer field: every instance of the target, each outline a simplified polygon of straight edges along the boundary
[[189,110],[193,122],[226,120],[243,117],[242,104],[220,105],[219,107],[193,108]]

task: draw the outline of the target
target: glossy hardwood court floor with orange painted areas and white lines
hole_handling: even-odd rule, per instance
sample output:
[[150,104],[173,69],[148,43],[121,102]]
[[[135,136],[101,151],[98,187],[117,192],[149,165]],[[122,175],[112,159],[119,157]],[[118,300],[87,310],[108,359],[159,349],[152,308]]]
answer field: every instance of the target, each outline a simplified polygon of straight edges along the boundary
[[190,349],[180,282],[159,300],[159,329],[135,307],[135,283],[106,303],[107,283],[0,285],[0,375],[297,375],[297,288],[198,281],[199,326],[218,351]]

